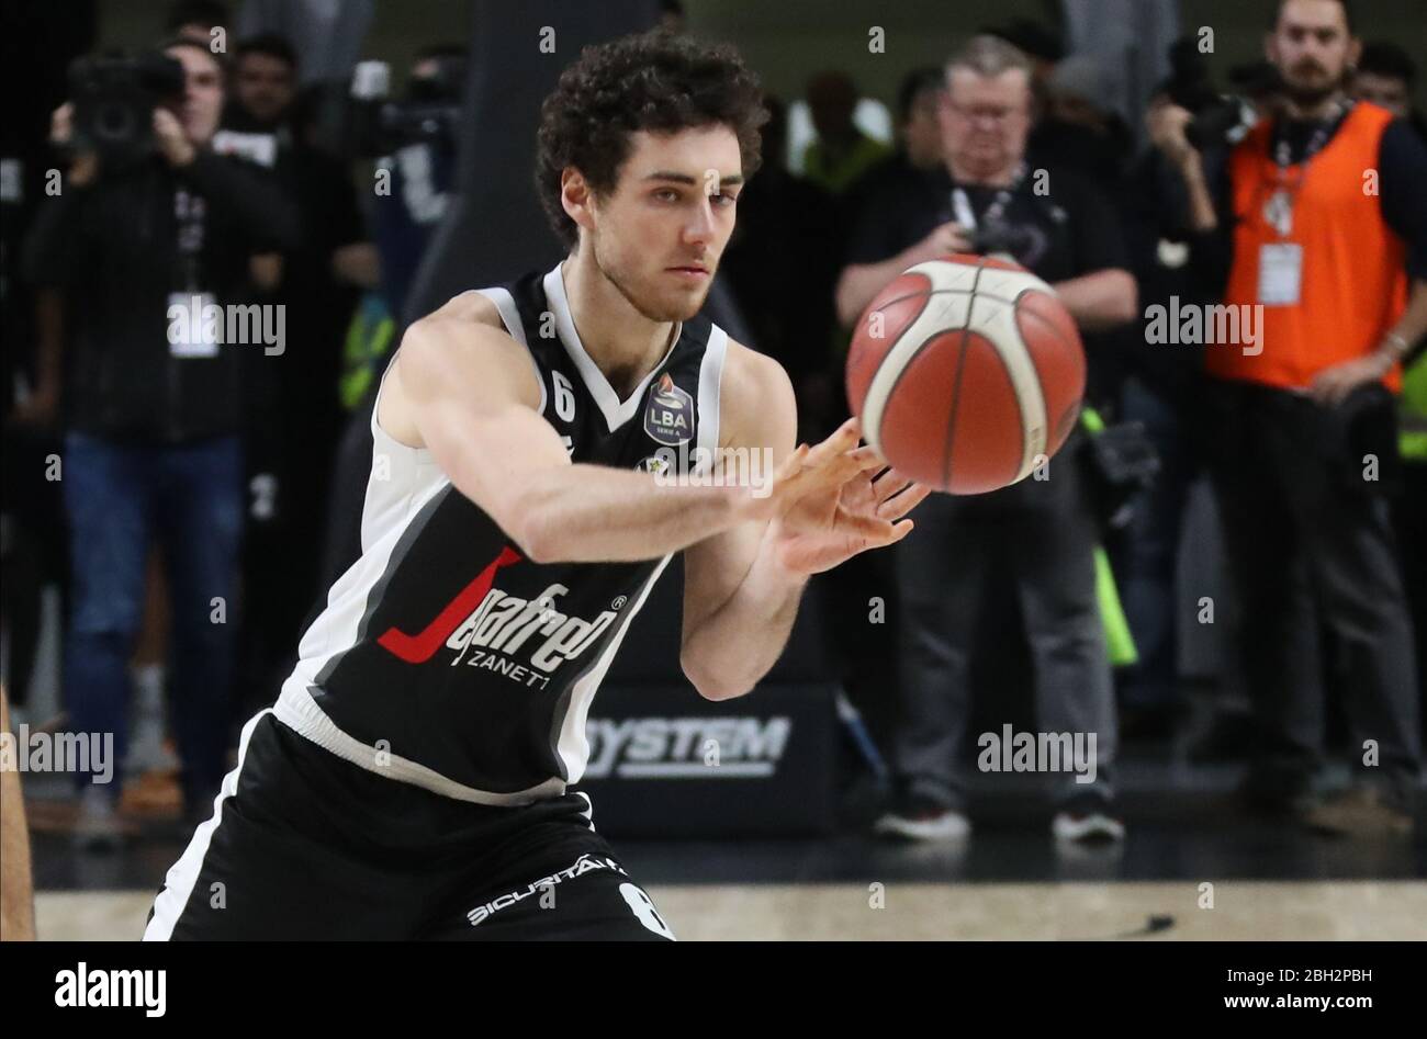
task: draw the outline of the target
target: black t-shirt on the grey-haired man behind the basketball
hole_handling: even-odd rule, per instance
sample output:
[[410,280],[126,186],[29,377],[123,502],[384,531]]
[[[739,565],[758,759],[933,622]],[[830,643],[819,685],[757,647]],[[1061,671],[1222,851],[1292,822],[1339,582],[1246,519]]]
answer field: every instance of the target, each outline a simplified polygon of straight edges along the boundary
[[[1120,221],[1104,196],[1076,173],[1030,171],[1012,193],[1002,223],[1012,231],[1012,254],[1049,283],[1107,268],[1129,268]],[[1045,186],[1045,194],[1036,190]],[[882,263],[955,218],[956,190],[945,168],[909,171],[878,187],[855,224],[849,264]],[[982,231],[1000,188],[962,186]]]

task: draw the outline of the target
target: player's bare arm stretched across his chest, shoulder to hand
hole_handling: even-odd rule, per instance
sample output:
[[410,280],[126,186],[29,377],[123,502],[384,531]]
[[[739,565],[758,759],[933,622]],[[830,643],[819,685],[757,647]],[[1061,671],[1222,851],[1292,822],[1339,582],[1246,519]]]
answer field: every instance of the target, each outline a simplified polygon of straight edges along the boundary
[[863,461],[822,451],[768,497],[746,487],[674,487],[645,472],[572,464],[538,408],[527,350],[494,304],[465,293],[407,331],[378,421],[400,442],[428,448],[455,488],[535,562],[658,558],[766,521],[801,494],[841,485]]

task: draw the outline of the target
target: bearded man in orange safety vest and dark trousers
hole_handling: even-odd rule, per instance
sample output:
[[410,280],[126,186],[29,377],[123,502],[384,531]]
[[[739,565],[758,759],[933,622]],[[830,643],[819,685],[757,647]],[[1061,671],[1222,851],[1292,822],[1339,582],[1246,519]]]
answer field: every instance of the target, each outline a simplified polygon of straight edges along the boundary
[[[1187,110],[1150,113],[1186,184],[1196,261],[1259,308],[1257,348],[1209,347],[1200,421],[1237,584],[1259,722],[1244,795],[1330,832],[1408,832],[1421,741],[1413,632],[1388,520],[1393,394],[1427,331],[1427,147],[1349,100],[1360,53],[1344,0],[1280,0],[1266,53],[1284,107],[1212,180]],[[1411,284],[1408,284],[1411,281]],[[1319,799],[1319,624],[1347,679],[1354,786]]]

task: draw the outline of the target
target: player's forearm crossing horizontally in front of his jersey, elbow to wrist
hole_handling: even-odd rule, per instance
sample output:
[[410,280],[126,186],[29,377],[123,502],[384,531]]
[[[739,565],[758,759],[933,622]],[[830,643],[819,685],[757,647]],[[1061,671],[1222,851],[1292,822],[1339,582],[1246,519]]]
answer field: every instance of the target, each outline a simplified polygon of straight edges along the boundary
[[534,474],[521,494],[522,548],[537,562],[656,559],[753,515],[746,487],[661,485],[579,462]]

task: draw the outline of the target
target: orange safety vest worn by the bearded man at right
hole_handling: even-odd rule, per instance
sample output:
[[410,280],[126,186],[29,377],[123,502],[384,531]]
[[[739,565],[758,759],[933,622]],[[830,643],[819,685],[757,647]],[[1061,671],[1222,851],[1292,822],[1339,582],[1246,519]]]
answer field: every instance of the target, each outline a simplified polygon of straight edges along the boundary
[[[1271,127],[1260,123],[1234,148],[1229,183],[1237,223],[1224,303],[1259,303],[1263,245],[1301,245],[1303,280],[1297,304],[1264,305],[1261,353],[1210,345],[1210,375],[1303,390],[1324,368],[1371,354],[1401,317],[1407,307],[1407,250],[1383,220],[1376,191],[1368,194],[1367,177],[1368,170],[1377,170],[1383,130],[1391,120],[1391,113],[1360,101],[1306,171],[1301,164],[1289,168],[1289,184],[1299,177],[1301,183],[1287,238],[1263,213],[1279,190],[1279,166],[1269,154]],[[1397,391],[1401,368],[1394,365],[1383,382]]]

